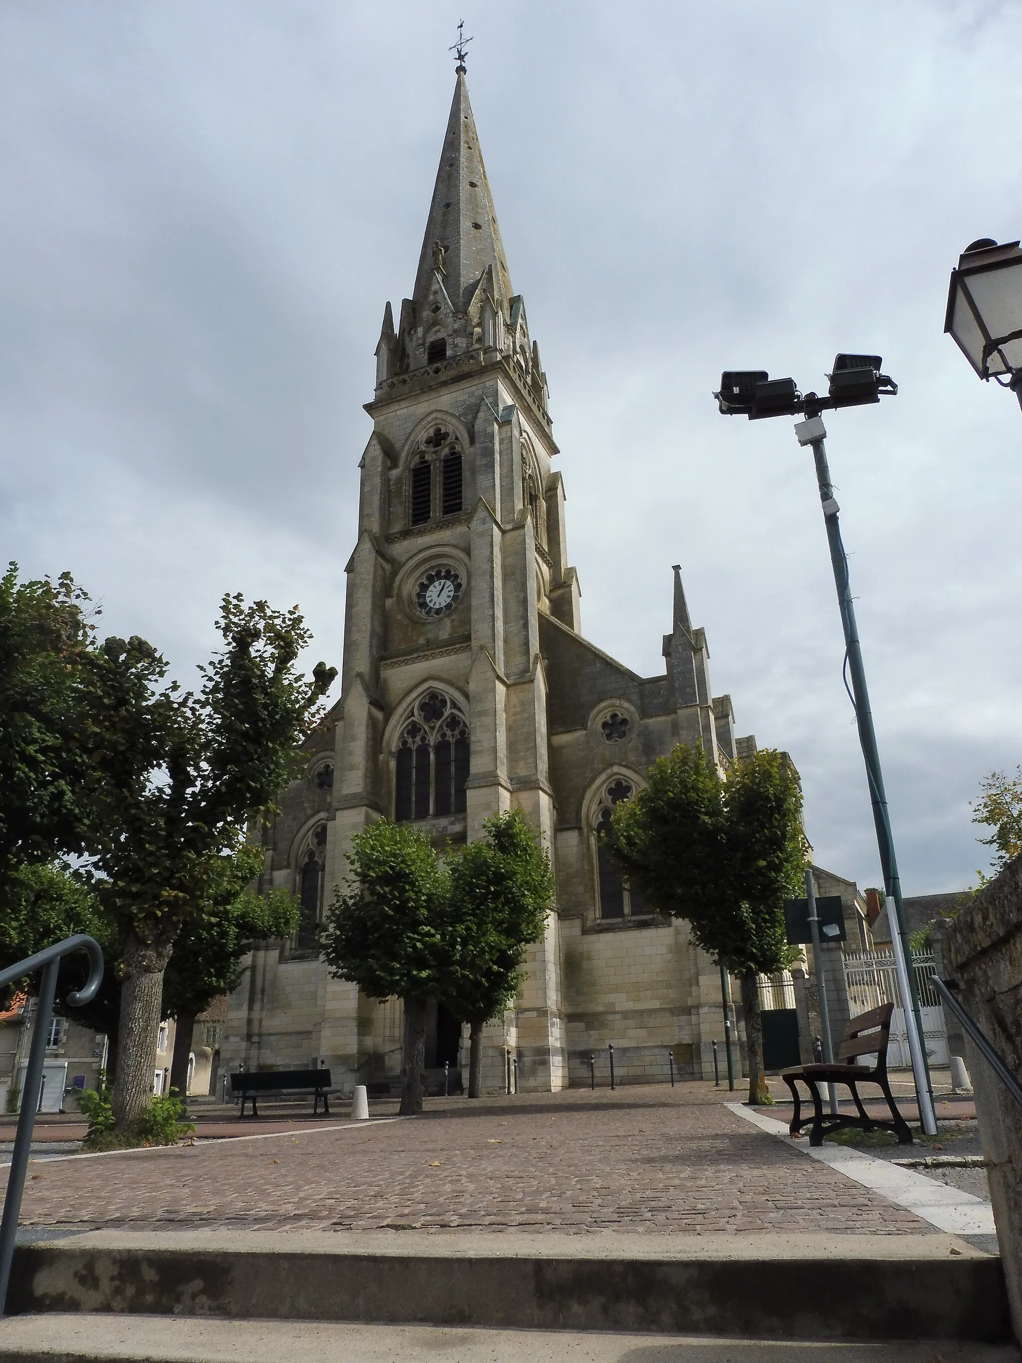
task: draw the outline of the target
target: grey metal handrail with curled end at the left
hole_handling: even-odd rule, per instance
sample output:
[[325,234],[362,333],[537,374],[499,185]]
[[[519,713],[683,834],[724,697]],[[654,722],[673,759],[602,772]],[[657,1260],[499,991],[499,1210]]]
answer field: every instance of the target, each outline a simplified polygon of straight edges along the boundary
[[31,1035],[31,1048],[29,1063],[25,1070],[25,1086],[22,1088],[22,1111],[18,1118],[18,1131],[14,1138],[14,1153],[11,1154],[11,1172],[7,1178],[7,1195],[4,1197],[4,1214],[0,1221],[0,1315],[7,1314],[7,1288],[11,1281],[11,1264],[14,1261],[14,1243],[18,1235],[18,1216],[22,1210],[22,1193],[25,1191],[25,1175],[29,1168],[29,1154],[31,1153],[31,1133],[35,1127],[35,1108],[40,1105],[42,1092],[42,1062],[46,1059],[46,1036],[49,1033],[50,1018],[53,1017],[53,999],[57,994],[57,973],[61,957],[71,951],[86,951],[89,954],[89,979],[80,990],[72,990],[67,1002],[72,1009],[82,1007],[83,1003],[95,995],[104,977],[104,954],[95,938],[78,932],[64,942],[48,946],[35,955],[18,961],[0,970],[0,987],[12,980],[20,980],[26,975],[34,975],[42,969],[40,983],[40,1003],[35,1009],[35,1028]]

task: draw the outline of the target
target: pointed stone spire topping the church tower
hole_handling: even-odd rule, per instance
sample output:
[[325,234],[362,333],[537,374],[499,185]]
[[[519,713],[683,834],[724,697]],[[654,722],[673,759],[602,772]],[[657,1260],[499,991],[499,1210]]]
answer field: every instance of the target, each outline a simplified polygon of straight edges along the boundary
[[495,294],[512,296],[497,215],[459,61],[433,200],[429,204],[413,303],[421,305],[439,275],[456,312],[467,309],[476,285],[492,266]]

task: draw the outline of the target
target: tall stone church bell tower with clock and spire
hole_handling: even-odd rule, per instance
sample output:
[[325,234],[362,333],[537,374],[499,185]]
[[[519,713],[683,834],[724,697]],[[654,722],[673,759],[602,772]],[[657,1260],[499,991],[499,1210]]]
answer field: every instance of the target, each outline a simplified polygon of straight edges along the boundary
[[[553,857],[540,616],[576,632],[579,593],[546,376],[511,285],[463,61],[414,288],[397,327],[384,309],[365,410],[327,878],[343,878],[352,837],[379,816],[456,845],[521,808]],[[486,1063],[514,1047],[523,1088],[557,1089],[556,913],[527,964],[515,1022],[484,1039]],[[357,1050],[341,1035],[347,1013],[335,1035],[324,1020],[323,1054]]]

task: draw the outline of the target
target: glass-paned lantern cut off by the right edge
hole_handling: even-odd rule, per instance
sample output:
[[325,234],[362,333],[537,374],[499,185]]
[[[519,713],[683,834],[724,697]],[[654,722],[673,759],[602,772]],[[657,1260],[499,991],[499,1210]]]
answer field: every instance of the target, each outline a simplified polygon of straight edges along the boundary
[[981,237],[951,271],[944,331],[981,379],[1011,388],[1022,406],[1022,248]]

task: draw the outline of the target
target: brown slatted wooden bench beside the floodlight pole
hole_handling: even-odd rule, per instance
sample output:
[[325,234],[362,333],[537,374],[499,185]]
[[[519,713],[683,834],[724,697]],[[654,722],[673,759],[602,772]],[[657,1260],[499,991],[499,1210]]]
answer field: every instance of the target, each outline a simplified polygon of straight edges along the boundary
[[[809,1145],[823,1145],[823,1137],[827,1131],[837,1131],[845,1126],[858,1126],[864,1131],[872,1131],[875,1127],[879,1127],[882,1131],[894,1131],[899,1145],[912,1145],[912,1130],[895,1107],[891,1085],[887,1081],[887,1044],[891,1035],[893,1013],[894,1005],[884,1003],[879,1009],[872,1009],[869,1013],[860,1013],[858,1017],[852,1018],[845,1028],[845,1039],[841,1043],[838,1059],[834,1065],[803,1065],[797,1070],[788,1070],[781,1075],[794,1099],[792,1124],[788,1127],[792,1135],[799,1135],[804,1126],[812,1123]],[[873,1066],[856,1063],[858,1056],[863,1055],[875,1055],[876,1063]],[[812,1097],[812,1116],[804,1118],[801,1115],[801,1101],[797,1088],[800,1079]],[[858,1115],[852,1116],[846,1112],[824,1114],[820,1097],[820,1085],[823,1084],[848,1085]],[[858,1096],[857,1085],[860,1084],[876,1084],[887,1099],[887,1107],[891,1109],[890,1122],[869,1116]]]

